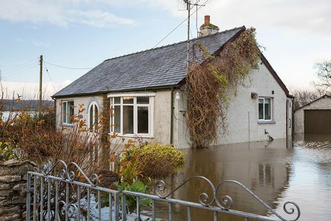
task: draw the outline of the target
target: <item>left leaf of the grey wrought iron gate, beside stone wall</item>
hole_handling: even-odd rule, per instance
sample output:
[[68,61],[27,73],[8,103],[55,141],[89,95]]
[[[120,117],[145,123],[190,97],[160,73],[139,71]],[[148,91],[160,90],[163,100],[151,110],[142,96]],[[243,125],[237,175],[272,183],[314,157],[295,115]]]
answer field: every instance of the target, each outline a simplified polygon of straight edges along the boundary
[[[56,166],[62,166],[58,176],[52,175]],[[49,167],[28,172],[26,220],[119,220],[119,191],[97,186],[98,176],[87,177],[74,162],[60,160]],[[76,181],[77,175],[85,182]],[[103,217],[101,195],[109,206]]]

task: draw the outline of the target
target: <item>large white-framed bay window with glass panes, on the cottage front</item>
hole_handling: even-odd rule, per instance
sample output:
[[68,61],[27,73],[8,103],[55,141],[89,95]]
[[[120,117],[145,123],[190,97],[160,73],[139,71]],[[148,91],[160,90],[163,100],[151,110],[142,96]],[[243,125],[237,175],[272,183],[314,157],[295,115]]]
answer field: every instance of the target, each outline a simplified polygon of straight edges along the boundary
[[153,135],[154,93],[108,95],[110,131],[120,135]]

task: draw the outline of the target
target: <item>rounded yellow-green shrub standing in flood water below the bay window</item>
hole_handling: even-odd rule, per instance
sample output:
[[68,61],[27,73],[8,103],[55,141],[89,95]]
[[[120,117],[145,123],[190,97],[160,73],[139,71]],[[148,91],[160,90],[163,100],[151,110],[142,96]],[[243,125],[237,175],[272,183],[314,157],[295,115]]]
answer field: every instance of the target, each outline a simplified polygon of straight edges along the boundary
[[121,158],[121,164],[134,165],[143,177],[167,177],[183,167],[184,157],[181,151],[171,145],[153,143],[128,148]]

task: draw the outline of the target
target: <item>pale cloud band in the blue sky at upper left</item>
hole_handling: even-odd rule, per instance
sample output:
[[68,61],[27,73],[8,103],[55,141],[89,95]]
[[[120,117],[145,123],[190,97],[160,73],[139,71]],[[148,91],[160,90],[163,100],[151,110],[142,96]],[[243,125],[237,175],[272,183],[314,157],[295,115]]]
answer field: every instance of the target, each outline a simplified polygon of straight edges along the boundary
[[0,19],[13,22],[51,23],[62,27],[77,23],[98,28],[134,24],[134,20],[119,17],[108,11],[72,10],[79,8],[82,3],[90,3],[90,1],[0,1]]

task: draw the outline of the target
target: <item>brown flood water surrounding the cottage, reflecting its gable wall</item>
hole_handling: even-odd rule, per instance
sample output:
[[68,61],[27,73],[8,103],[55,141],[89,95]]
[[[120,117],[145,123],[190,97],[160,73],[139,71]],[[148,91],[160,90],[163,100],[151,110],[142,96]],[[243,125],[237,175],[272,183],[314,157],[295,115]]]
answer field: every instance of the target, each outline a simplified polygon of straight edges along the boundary
[[[207,177],[216,186],[223,180],[237,180],[251,189],[272,209],[285,218],[294,218],[283,211],[283,204],[299,204],[299,220],[331,220],[331,137],[297,135],[293,140],[274,140],[229,144],[207,150],[185,150],[183,172],[166,180],[167,189],[174,189],[194,175]],[[185,184],[172,198],[199,202],[200,193],[211,191],[203,181]],[[272,216],[257,200],[239,186],[226,184],[218,197],[230,195],[232,209]],[[157,216],[167,218],[166,204],[157,204]],[[184,206],[173,206],[174,220],[187,219]],[[192,220],[212,220],[212,212],[192,209]],[[219,215],[220,220],[243,220]]]

